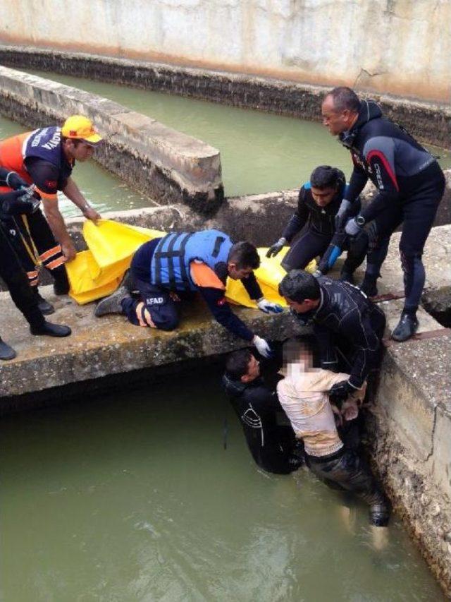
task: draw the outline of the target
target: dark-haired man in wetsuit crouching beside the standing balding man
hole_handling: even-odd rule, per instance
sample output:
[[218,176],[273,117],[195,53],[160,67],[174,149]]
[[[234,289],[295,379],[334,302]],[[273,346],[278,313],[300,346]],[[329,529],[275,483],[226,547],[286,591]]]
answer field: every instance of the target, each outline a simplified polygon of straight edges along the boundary
[[[292,239],[301,232],[283,258],[282,267],[287,272],[304,270],[311,260],[319,256],[323,258],[319,270],[322,274],[326,274],[331,265],[328,263],[328,257],[323,256],[328,251],[335,232],[342,231],[345,226],[340,224],[340,219],[337,217],[345,190],[345,174],[340,169],[329,165],[316,167],[311,172],[310,180],[299,190],[297,210],[283,230],[280,239],[268,249],[266,257],[275,257],[286,243],[291,243]],[[359,200],[353,210],[354,215],[357,215],[360,210]],[[354,270],[364,260],[367,247],[366,231],[362,230],[359,236],[352,239],[345,235],[339,251],[341,253],[347,248],[348,253],[340,279],[354,282]]]

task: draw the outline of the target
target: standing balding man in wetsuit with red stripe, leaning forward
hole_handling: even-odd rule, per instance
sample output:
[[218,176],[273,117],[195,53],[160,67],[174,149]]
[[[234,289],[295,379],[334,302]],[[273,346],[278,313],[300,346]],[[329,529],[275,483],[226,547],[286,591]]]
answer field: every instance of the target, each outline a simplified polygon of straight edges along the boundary
[[356,236],[366,223],[372,222],[363,283],[369,296],[377,294],[376,280],[390,236],[402,223],[400,255],[405,301],[392,337],[405,341],[419,326],[416,311],[425,282],[421,255],[445,190],[443,171],[435,157],[404,128],[383,117],[375,102],[361,102],[350,88],[331,90],[323,100],[321,113],[323,124],[333,136],[339,136],[354,162],[339,213],[352,207],[368,179],[378,189],[376,198],[345,227],[347,234]]

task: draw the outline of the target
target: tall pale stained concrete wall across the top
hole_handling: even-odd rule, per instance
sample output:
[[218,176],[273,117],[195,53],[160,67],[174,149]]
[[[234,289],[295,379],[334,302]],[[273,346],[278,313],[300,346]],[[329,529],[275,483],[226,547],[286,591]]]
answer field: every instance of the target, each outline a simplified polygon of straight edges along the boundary
[[[448,0],[0,1],[0,40],[449,102]],[[49,27],[49,20],[51,26]]]

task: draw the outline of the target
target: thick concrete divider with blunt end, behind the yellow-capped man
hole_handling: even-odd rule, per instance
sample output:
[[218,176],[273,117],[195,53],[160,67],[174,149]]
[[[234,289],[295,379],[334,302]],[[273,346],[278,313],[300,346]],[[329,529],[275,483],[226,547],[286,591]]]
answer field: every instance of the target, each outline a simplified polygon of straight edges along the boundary
[[216,148],[116,102],[0,67],[0,109],[32,128],[85,114],[106,138],[96,150],[97,161],[133,188],[161,203],[185,203],[204,213],[221,203]]

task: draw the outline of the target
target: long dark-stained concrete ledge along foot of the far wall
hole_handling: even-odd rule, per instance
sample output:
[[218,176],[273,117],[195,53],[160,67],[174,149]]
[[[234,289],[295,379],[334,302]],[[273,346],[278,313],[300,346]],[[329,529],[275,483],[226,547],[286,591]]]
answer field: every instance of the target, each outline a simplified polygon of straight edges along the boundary
[[[70,73],[89,79],[133,85],[212,102],[271,111],[319,121],[320,103],[333,86],[300,84],[287,80],[238,75],[169,64],[116,59],[109,56],[0,45],[4,65]],[[366,94],[381,103],[387,116],[426,143],[450,148],[449,104],[404,100],[390,95]]]

